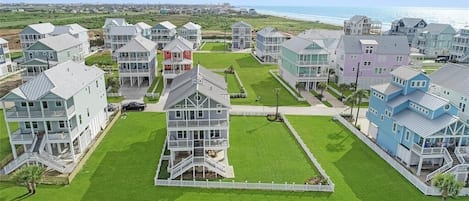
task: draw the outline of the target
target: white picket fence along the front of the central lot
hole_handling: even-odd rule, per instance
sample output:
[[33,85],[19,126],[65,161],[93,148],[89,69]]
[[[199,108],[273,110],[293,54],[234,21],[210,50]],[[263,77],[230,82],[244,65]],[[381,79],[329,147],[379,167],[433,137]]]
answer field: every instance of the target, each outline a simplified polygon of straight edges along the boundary
[[257,189],[274,191],[322,191],[334,192],[331,185],[309,185],[309,184],[289,184],[289,183],[248,183],[246,182],[223,182],[223,181],[188,181],[188,180],[170,180],[155,179],[156,186],[178,186],[178,187],[196,187],[196,188],[221,188],[221,189]]

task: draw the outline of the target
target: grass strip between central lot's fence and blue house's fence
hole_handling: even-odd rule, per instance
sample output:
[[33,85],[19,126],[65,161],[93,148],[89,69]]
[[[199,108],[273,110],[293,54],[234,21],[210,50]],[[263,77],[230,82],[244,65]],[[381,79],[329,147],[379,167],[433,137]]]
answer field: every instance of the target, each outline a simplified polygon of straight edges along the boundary
[[[335,184],[328,200],[431,201],[331,117],[288,116]],[[461,198],[462,200],[462,198]]]

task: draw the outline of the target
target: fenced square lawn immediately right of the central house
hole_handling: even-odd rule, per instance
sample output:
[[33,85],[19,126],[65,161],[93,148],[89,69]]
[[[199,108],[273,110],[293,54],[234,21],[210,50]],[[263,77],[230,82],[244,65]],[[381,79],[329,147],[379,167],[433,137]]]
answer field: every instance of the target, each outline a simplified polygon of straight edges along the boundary
[[265,117],[231,116],[228,159],[239,182],[302,184],[318,175],[285,124]]

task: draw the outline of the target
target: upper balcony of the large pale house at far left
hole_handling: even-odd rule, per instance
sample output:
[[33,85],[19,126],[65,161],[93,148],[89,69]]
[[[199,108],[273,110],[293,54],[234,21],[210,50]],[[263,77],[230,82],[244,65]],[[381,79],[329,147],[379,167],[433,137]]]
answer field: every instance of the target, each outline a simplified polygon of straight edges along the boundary
[[[75,112],[75,106],[72,105],[67,109],[68,115],[72,116]],[[6,111],[7,119],[22,119],[22,118],[61,118],[67,117],[65,110],[31,110],[29,113],[27,110],[18,111],[15,107]]]

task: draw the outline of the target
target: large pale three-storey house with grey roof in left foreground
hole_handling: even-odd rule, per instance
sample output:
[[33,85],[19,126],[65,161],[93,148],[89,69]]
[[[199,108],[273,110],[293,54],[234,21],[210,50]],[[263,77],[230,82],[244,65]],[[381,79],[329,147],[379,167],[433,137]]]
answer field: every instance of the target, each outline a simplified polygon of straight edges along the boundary
[[44,71],[0,102],[13,153],[4,174],[24,164],[70,173],[107,124],[104,72],[73,61]]

